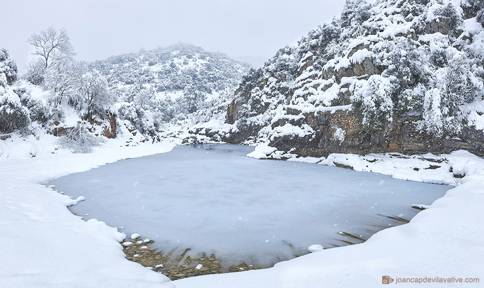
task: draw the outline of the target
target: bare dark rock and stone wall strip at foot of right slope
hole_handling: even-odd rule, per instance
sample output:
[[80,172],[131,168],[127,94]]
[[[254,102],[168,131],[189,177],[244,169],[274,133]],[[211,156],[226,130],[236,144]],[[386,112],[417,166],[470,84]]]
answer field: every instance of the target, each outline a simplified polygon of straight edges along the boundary
[[[383,132],[366,129],[352,112],[305,116],[304,122],[313,128],[314,135],[302,138],[284,135],[274,139],[270,146],[285,152],[292,149],[291,153],[303,157],[322,157],[331,153],[447,154],[461,149],[484,156],[482,131],[464,128],[459,137],[438,138],[419,132],[416,122],[421,120],[420,116],[394,114],[393,121]],[[345,131],[343,141],[335,138],[336,127]]]

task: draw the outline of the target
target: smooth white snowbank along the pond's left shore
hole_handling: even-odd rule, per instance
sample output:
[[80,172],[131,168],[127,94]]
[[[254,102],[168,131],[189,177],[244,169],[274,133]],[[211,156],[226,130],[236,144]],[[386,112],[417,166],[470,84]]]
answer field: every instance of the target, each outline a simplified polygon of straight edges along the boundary
[[81,220],[66,208],[75,200],[39,183],[124,158],[168,152],[175,142],[125,147],[112,140],[110,147],[93,154],[56,151],[35,138],[0,142],[1,287],[146,288],[169,281],[124,259],[119,244],[124,234],[101,221]]

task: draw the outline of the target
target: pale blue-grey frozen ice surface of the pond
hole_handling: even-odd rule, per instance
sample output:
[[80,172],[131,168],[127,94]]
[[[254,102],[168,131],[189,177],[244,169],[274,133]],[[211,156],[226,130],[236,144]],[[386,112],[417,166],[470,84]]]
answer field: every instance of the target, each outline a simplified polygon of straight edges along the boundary
[[360,243],[385,227],[410,220],[413,204],[430,205],[444,185],[310,163],[256,160],[253,147],[209,144],[122,160],[50,182],[84,196],[70,208],[152,248],[197,257],[215,253],[222,267],[268,267],[325,248]]

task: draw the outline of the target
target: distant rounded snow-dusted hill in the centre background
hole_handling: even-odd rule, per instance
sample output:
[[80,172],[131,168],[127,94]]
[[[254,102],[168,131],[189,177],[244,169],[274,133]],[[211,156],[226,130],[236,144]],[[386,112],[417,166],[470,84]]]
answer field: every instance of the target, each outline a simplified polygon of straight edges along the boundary
[[89,66],[106,77],[120,102],[127,102],[121,104],[121,118],[136,110],[157,129],[165,122],[186,125],[220,115],[250,68],[184,43],[112,56]]

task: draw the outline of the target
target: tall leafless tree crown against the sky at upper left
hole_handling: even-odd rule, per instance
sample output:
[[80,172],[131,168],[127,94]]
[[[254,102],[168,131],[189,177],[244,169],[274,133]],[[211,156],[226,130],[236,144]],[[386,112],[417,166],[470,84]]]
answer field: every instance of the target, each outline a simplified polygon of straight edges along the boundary
[[27,42],[36,49],[32,54],[43,58],[45,68],[50,67],[60,58],[73,58],[76,55],[64,28],[58,33],[51,26],[47,30],[41,30],[39,34],[32,34]]

